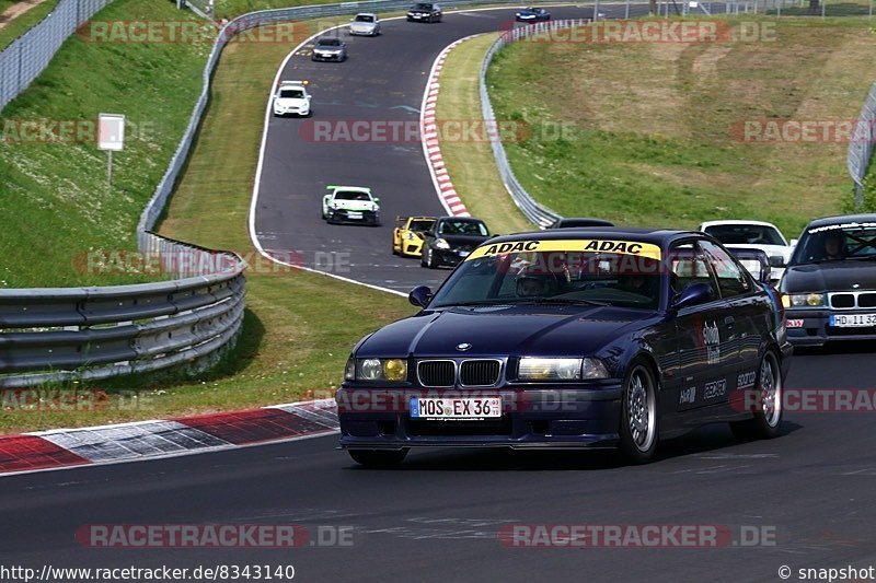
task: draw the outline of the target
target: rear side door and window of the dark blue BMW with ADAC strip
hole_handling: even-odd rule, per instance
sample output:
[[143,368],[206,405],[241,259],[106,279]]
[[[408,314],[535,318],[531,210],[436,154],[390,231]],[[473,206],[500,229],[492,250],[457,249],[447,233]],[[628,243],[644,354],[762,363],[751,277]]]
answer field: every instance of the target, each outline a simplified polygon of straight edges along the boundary
[[771,319],[770,300],[726,249],[710,241],[702,241],[700,246],[730,310],[729,331],[736,360],[728,375],[728,397],[734,400],[741,398],[739,392],[754,386],[760,347]]

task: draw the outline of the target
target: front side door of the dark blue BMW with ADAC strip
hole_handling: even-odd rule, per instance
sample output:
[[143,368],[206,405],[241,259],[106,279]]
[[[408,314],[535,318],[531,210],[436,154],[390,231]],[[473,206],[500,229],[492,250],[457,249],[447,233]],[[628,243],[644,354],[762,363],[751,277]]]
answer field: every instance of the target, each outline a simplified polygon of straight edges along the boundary
[[679,395],[678,411],[727,403],[728,378],[737,368],[731,310],[721,295],[713,269],[696,241],[670,248],[670,289],[691,283],[712,288],[712,300],[682,307],[675,315]]

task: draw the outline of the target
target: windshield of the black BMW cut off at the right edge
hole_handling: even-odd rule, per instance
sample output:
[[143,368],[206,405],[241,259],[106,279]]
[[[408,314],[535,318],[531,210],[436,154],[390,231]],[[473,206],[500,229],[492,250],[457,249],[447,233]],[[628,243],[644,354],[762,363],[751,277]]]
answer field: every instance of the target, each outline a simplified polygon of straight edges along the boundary
[[808,229],[788,265],[876,259],[876,223],[838,223]]

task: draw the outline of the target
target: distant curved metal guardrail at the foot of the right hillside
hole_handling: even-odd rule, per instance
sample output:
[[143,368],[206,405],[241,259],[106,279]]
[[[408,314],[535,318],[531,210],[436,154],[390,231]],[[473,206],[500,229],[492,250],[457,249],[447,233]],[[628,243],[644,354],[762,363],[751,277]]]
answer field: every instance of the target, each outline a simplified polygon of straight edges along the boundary
[[489,94],[486,90],[486,71],[489,68],[489,63],[493,62],[493,57],[511,43],[516,43],[521,38],[527,38],[532,35],[578,26],[587,24],[589,20],[540,22],[506,31],[489,46],[486,55],[484,55],[484,60],[481,62],[481,113],[486,127],[492,129],[489,131],[489,144],[493,147],[493,158],[496,160],[496,167],[499,171],[503,184],[505,184],[505,189],[508,190],[508,194],[511,196],[511,200],[514,200],[517,208],[520,209],[520,212],[540,229],[550,226],[554,221],[561,218],[561,214],[532,198],[517,179],[517,176],[515,176],[508,163],[508,155],[505,153],[505,147],[502,144],[499,132],[496,131],[496,115],[493,112],[493,105],[489,103]]

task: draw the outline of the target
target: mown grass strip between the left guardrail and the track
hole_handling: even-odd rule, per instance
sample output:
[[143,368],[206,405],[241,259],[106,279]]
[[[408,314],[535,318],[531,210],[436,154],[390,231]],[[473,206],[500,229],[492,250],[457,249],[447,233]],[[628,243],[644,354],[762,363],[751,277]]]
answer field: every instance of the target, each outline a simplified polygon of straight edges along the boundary
[[[288,46],[232,44],[214,77],[212,98],[162,234],[252,253],[246,215],[266,93]],[[82,427],[330,397],[360,337],[414,312],[407,302],[299,270],[247,277],[237,347],[197,380],[182,373],[94,383],[88,407],[15,407],[0,431]],[[138,398],[132,398],[135,392]],[[84,409],[84,410],[83,410]]]

